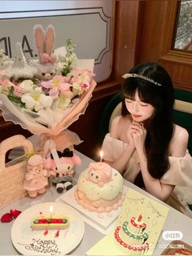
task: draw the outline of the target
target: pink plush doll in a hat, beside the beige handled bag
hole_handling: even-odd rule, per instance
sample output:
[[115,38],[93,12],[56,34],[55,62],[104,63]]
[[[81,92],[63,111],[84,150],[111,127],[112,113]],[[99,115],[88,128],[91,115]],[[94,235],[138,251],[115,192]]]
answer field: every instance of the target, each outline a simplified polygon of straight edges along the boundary
[[48,185],[47,172],[43,169],[43,158],[40,155],[34,155],[28,159],[27,173],[24,179],[24,188],[31,197],[46,192]]

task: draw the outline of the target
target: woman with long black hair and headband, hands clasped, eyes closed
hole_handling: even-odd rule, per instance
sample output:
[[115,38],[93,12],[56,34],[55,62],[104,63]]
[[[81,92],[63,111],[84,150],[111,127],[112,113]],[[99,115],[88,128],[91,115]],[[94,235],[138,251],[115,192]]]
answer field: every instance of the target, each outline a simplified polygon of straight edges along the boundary
[[187,130],[172,123],[172,80],[154,63],[138,64],[124,78],[122,113],[103,141],[104,160],[125,179],[192,217],[186,202],[181,203],[183,196],[178,199],[183,188],[178,186],[192,185],[192,161]]

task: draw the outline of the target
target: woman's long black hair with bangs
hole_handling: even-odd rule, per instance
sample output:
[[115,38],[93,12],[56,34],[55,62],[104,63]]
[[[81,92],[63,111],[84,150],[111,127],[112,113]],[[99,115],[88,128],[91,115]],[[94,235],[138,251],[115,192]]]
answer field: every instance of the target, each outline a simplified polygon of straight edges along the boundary
[[[137,90],[139,98],[155,108],[154,115],[146,124],[146,157],[149,173],[155,179],[160,179],[169,168],[168,146],[172,139],[172,107],[174,90],[172,80],[166,70],[159,64],[145,62],[132,68],[129,73],[141,74],[153,79],[161,86],[139,77],[128,77],[122,86],[122,115],[129,112],[124,99],[132,98]],[[141,173],[135,182],[141,181]],[[140,183],[140,182],[139,182]],[[140,186],[143,184],[140,184]]]

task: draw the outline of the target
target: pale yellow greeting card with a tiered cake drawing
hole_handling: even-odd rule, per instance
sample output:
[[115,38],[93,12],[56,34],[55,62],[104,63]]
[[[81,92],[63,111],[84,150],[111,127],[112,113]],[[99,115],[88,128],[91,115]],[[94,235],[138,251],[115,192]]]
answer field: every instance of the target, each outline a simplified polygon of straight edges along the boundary
[[129,188],[114,230],[87,255],[151,255],[168,216],[168,207]]

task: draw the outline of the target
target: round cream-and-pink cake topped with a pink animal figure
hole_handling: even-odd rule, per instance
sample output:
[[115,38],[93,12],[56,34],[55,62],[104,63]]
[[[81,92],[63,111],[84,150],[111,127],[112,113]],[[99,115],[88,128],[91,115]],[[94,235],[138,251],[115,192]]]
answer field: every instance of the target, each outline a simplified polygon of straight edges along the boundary
[[93,212],[117,210],[124,201],[124,181],[107,163],[90,163],[77,181],[75,198],[79,205]]

